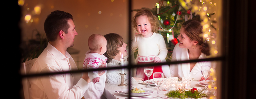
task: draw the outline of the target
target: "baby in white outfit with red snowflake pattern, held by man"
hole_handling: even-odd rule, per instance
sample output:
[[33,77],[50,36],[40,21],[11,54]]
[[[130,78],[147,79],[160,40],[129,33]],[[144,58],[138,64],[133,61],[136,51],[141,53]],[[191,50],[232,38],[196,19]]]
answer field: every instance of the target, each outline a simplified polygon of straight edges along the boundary
[[[104,36],[99,34],[93,34],[88,39],[89,51],[86,52],[86,57],[84,60],[84,69],[98,69],[106,68],[107,57],[103,54],[106,52],[107,40]],[[106,81],[106,70],[105,73],[101,76],[98,73],[103,71],[93,71],[88,72],[88,76],[91,80],[89,82],[90,86],[85,92],[85,99],[100,99],[103,94],[105,81]]]

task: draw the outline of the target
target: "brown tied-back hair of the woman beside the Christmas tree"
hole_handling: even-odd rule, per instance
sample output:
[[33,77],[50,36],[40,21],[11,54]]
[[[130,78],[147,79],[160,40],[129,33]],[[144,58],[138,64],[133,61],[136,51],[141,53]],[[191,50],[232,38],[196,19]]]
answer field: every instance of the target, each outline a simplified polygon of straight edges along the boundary
[[209,45],[207,42],[203,42],[203,37],[200,36],[203,34],[203,26],[201,25],[201,21],[197,19],[187,20],[182,24],[182,27],[184,28],[185,34],[189,37],[190,40],[198,42],[201,52],[209,56]]

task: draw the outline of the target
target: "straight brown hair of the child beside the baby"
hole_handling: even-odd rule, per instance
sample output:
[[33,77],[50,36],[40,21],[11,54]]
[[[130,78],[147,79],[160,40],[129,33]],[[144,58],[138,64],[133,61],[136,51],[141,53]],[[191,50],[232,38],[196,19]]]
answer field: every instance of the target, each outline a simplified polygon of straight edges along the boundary
[[116,33],[109,33],[104,35],[107,40],[107,51],[104,55],[107,57],[107,63],[109,63],[119,52],[118,48],[122,47],[124,41],[123,38]]

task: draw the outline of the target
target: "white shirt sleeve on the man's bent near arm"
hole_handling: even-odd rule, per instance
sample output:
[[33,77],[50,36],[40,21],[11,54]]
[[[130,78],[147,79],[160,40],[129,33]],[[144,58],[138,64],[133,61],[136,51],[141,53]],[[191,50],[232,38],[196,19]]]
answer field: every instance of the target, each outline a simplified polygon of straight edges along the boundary
[[[54,66],[48,66],[43,69],[46,72],[58,72],[60,70]],[[42,77],[42,90],[46,93],[48,99],[81,99],[89,85],[84,79],[80,79],[73,88],[69,89],[68,84],[63,78],[64,74],[50,75]]]

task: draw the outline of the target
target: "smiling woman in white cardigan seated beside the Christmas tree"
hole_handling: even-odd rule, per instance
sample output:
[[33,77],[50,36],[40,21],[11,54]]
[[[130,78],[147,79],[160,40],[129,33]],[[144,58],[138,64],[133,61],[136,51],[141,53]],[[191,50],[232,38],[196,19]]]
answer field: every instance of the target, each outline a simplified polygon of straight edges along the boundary
[[[200,20],[188,20],[184,22],[177,37],[179,43],[174,47],[171,61],[204,59],[210,55],[210,48],[203,40]],[[205,41],[205,42],[204,42]],[[204,80],[201,74],[201,66],[210,65],[211,62],[192,62],[170,65],[172,77],[190,77],[194,81]]]

